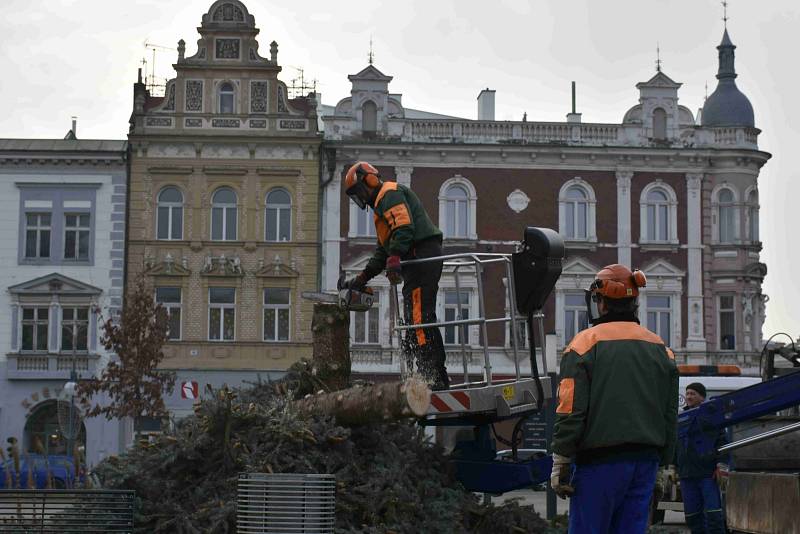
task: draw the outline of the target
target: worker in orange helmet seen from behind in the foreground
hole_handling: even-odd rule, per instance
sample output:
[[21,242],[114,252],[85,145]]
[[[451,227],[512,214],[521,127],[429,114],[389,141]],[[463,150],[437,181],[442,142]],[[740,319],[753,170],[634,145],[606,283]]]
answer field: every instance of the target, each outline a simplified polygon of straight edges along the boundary
[[674,455],[678,370],[664,341],[639,325],[645,284],[619,264],[597,273],[587,306],[599,317],[561,360],[550,485],[571,497],[571,534],[643,534],[656,471]]

